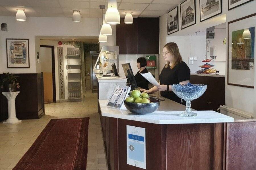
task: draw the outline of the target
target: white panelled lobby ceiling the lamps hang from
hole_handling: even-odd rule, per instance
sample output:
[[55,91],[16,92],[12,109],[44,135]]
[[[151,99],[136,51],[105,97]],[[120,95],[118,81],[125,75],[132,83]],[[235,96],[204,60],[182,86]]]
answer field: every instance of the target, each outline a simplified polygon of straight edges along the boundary
[[[108,1],[108,0],[106,0]],[[184,0],[117,0],[120,16],[133,12],[133,17],[159,17]],[[72,17],[72,10],[80,10],[83,18],[102,18],[99,5],[105,0],[0,0],[0,16],[15,16],[17,8],[26,16]]]

